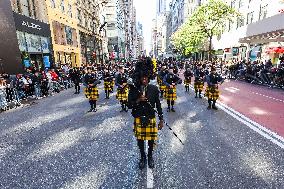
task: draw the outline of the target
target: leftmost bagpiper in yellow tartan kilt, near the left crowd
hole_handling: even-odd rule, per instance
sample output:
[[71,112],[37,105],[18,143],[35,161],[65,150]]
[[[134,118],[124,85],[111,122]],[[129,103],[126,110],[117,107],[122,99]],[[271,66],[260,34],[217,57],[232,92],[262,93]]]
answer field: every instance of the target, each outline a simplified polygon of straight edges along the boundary
[[84,86],[86,98],[89,99],[91,109],[88,112],[97,111],[97,100],[99,98],[99,91],[97,85],[100,84],[96,73],[91,68],[87,69],[87,73],[84,76]]

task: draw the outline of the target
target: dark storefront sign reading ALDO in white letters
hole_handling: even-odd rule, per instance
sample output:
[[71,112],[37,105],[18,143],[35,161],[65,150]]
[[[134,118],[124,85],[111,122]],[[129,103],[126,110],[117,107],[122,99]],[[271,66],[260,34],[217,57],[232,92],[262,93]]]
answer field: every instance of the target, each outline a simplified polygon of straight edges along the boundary
[[50,27],[49,24],[40,22],[38,20],[29,18],[27,16],[13,13],[15,26],[18,31],[27,32],[35,35],[40,35],[44,37],[50,37]]

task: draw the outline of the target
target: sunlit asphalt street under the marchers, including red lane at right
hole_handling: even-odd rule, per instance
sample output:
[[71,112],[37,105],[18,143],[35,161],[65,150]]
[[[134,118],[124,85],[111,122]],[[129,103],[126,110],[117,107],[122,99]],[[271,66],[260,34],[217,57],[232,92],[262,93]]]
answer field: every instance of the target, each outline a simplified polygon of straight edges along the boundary
[[[251,118],[259,115],[251,107],[281,116],[280,102],[271,105],[276,112],[269,111],[252,92],[270,94],[252,85],[245,93],[246,85],[224,83],[222,102],[243,114],[246,105]],[[248,97],[243,103],[230,98],[237,89]],[[88,101],[73,90],[1,113],[0,188],[284,188],[283,148],[222,109],[207,110],[206,100],[186,94],[182,85],[175,113],[162,103],[184,145],[165,126],[154,152],[156,167],[139,170],[133,118],[119,112],[114,94],[107,101],[102,86],[100,92],[96,113],[86,113]],[[267,117],[260,121],[283,134],[280,119],[275,125]]]

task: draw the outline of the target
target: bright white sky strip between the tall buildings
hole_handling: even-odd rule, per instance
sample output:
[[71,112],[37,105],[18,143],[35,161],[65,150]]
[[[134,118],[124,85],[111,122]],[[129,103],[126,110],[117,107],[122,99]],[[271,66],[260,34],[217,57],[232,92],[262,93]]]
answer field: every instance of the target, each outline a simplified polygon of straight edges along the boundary
[[137,21],[143,25],[144,46],[149,53],[151,49],[152,20],[156,17],[156,0],[134,0]]

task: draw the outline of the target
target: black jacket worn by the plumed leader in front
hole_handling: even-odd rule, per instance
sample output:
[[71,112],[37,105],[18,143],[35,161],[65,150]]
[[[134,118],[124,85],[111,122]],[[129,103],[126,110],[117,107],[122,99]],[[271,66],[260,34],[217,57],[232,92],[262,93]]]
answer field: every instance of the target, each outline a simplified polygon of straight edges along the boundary
[[146,97],[148,102],[139,102],[137,103],[137,99],[141,95],[141,89],[137,87],[131,86],[129,95],[128,95],[128,107],[132,109],[132,116],[134,118],[147,116],[148,118],[155,118],[155,110],[156,108],[159,114],[159,119],[163,119],[163,111],[161,107],[161,102],[159,99],[159,89],[155,85],[149,84],[146,87]]

